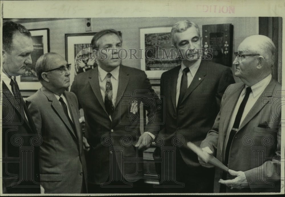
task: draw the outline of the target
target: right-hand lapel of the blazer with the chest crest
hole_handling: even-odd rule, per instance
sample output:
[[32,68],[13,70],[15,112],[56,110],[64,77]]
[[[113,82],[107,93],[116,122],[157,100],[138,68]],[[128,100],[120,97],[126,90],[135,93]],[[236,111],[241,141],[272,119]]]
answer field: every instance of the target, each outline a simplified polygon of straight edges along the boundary
[[123,65],[120,65],[118,92],[114,109],[116,109],[120,101],[120,98],[123,96],[123,92],[125,92],[127,88],[128,83],[129,83],[129,73],[127,72],[127,70],[124,68]]

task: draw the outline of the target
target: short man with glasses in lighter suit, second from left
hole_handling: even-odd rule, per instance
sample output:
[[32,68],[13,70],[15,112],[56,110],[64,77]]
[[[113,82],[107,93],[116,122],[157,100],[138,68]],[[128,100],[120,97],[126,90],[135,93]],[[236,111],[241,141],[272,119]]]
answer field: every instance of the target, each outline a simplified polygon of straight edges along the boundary
[[76,96],[66,89],[70,64],[57,53],[36,62],[42,88],[27,98],[28,109],[43,142],[40,181],[45,193],[86,193],[87,171]]

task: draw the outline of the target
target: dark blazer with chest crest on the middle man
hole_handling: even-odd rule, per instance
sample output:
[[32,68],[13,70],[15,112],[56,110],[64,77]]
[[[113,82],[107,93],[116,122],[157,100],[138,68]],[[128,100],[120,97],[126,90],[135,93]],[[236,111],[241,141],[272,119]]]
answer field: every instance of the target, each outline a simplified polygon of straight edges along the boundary
[[[75,76],[70,91],[76,94],[84,110],[86,138],[92,146],[86,158],[88,181],[94,184],[105,183],[110,172],[114,173],[110,168],[110,148],[116,150],[123,148],[123,155],[111,156],[112,161],[116,160],[118,163],[124,179],[129,182],[139,180],[139,177],[143,176],[143,163],[137,161],[142,161],[143,153],[138,151],[134,145],[141,135],[140,121],[134,119],[131,108],[135,106],[133,101],[136,98],[150,98],[154,106],[158,99],[154,97],[154,90],[144,71],[120,65],[118,92],[112,121],[105,110],[97,68]],[[134,96],[135,94],[137,97]],[[152,123],[159,122],[157,113],[158,111],[154,112]],[[152,124],[148,124],[150,125]],[[158,130],[159,128],[146,128],[145,131],[155,134]],[[131,158],[134,162],[121,163],[122,159]]]

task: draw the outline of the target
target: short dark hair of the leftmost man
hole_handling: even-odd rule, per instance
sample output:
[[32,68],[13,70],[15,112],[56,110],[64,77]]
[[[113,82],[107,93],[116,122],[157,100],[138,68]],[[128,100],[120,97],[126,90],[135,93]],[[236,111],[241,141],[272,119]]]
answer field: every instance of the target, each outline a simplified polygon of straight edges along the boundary
[[3,50],[7,51],[8,53],[11,52],[12,39],[15,33],[19,32],[21,34],[24,34],[25,36],[31,37],[31,33],[29,32],[29,30],[27,30],[23,25],[12,21],[4,22],[2,32],[2,47]]

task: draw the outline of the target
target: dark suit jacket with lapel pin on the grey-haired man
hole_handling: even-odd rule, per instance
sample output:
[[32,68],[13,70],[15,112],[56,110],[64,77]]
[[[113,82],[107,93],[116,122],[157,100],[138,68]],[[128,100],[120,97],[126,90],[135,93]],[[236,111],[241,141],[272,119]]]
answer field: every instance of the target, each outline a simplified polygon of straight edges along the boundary
[[177,109],[176,85],[180,68],[177,66],[161,76],[160,92],[165,100],[166,121],[160,134],[172,134],[165,136],[164,146],[173,146],[172,137],[181,134],[184,144],[178,150],[185,163],[195,167],[200,166],[200,163],[197,155],[187,147],[187,142],[200,146],[219,112],[225,89],[235,81],[229,67],[202,60]]

